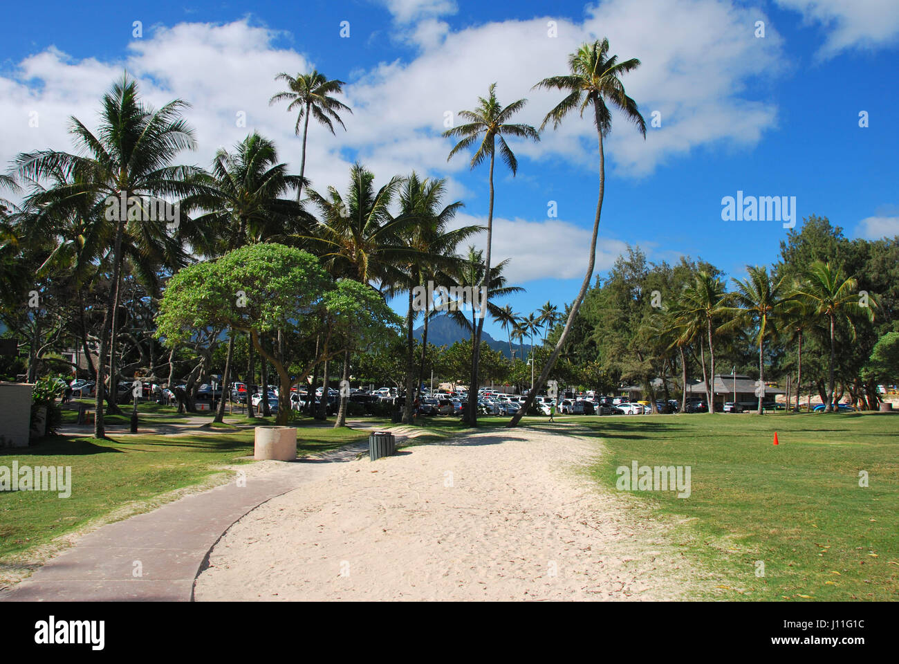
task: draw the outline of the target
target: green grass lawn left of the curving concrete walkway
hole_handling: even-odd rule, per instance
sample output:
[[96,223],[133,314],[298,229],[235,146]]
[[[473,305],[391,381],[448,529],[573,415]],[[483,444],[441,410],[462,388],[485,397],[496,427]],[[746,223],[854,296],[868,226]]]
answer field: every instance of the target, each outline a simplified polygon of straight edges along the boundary
[[[298,454],[364,440],[367,432],[298,425]],[[48,543],[132,501],[182,489],[253,453],[254,432],[223,429],[197,435],[111,435],[111,440],[56,436],[27,450],[0,450],[0,465],[71,466],[72,494],[0,492],[0,569],[4,557]],[[138,511],[139,508],[138,508]]]

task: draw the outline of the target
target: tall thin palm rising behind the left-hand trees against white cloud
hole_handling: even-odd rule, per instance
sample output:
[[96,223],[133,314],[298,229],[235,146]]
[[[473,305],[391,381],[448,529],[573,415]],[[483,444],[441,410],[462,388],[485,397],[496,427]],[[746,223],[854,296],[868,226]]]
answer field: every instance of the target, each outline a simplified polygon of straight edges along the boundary
[[343,92],[343,81],[337,79],[329,81],[327,76],[315,69],[310,74],[298,74],[297,76],[281,72],[275,76],[275,80],[285,81],[289,89],[272,95],[269,105],[289,101],[288,112],[297,112],[297,122],[293,127],[297,136],[299,136],[299,123],[303,122],[303,152],[299,163],[301,181],[297,188],[297,202],[299,202],[300,194],[303,193],[302,178],[306,175],[306,138],[309,130],[309,116],[315,117],[316,121],[325,125],[334,135],[334,122],[343,127],[344,131],[346,130],[339,111],[352,113],[352,109],[331,96]]

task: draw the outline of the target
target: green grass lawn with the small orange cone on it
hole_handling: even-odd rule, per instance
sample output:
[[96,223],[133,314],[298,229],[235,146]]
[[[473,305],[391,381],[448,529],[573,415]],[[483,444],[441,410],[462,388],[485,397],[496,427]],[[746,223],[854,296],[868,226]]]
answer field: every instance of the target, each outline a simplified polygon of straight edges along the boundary
[[[725,579],[711,596],[899,599],[899,416],[572,419],[604,441],[609,453],[594,476],[611,489],[616,469],[635,460],[690,466],[689,498],[631,493],[651,515],[690,519],[675,537]],[[859,487],[859,471],[868,472],[868,488]]]

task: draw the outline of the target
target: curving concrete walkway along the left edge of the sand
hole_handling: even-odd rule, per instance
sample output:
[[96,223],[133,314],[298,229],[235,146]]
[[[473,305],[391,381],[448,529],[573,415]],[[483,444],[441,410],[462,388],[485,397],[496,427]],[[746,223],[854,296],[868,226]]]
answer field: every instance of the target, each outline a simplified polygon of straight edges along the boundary
[[352,444],[279,463],[277,470],[247,477],[245,486],[232,481],[103,525],[4,591],[0,601],[191,601],[207,554],[237,519],[367,450],[367,443]]

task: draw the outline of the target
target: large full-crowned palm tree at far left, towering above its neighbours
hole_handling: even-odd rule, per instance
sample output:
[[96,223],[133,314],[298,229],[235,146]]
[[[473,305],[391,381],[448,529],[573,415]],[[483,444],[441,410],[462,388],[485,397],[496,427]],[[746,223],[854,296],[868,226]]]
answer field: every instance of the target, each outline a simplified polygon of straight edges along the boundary
[[[77,118],[70,119],[70,133],[82,155],[54,150],[20,154],[15,165],[20,177],[38,181],[61,170],[72,174],[71,183],[54,187],[32,197],[31,204],[52,213],[77,204],[79,197],[89,196],[107,201],[93,211],[93,218],[106,219],[106,212],[116,201],[145,197],[181,197],[191,193],[189,180],[197,173],[191,166],[172,166],[174,157],[183,149],[194,149],[193,130],[182,119],[187,103],[176,99],[155,110],[140,101],[138,85],[126,74],[103,95],[101,123],[94,133]],[[124,211],[110,215],[114,226],[112,238],[112,287],[100,334],[100,362],[97,372],[96,417],[93,435],[105,438],[102,402],[105,358],[110,358],[113,391],[116,379],[114,313],[120,299],[123,261],[123,238],[131,225],[137,233],[165,234],[165,221],[134,222]],[[133,222],[133,223],[132,223]]]

